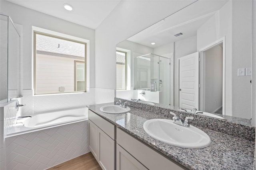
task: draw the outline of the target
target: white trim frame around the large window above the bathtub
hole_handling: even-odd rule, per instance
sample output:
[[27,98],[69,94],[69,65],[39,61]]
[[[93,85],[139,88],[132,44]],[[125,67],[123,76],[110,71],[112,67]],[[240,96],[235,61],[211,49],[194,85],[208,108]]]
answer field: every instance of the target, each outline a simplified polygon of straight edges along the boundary
[[[70,93],[56,93],[56,94],[35,94],[34,93],[34,31],[42,32],[42,33],[47,33],[50,35],[56,35],[58,37],[64,37],[67,39],[74,39],[76,41],[81,41],[86,43],[86,92],[70,92]],[[35,27],[32,26],[32,94],[33,96],[50,96],[50,95],[62,95],[62,94],[80,94],[80,93],[88,93],[90,90],[90,40],[88,39],[83,39],[80,37],[75,37],[72,35],[64,34],[64,33],[59,33],[56,31],[51,31],[48,29],[40,28],[40,27]]]

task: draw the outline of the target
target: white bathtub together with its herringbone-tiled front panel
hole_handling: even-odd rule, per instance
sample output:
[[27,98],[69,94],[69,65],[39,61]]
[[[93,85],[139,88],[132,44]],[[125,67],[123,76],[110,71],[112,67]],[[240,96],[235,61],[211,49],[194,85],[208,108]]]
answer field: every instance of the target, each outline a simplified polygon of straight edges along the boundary
[[31,116],[20,119],[5,137],[7,170],[45,170],[90,151],[88,108]]

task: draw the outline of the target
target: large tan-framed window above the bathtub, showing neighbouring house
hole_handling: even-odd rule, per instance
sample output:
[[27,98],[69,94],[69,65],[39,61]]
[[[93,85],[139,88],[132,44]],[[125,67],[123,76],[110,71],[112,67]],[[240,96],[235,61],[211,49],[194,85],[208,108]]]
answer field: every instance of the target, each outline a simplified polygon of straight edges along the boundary
[[34,94],[69,92],[86,92],[86,43],[34,31]]

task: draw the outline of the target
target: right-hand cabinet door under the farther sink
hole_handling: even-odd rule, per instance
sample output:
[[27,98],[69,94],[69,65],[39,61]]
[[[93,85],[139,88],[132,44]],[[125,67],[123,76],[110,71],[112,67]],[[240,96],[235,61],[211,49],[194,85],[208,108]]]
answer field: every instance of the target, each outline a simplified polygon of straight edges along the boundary
[[116,141],[98,128],[98,163],[103,170],[115,169]]

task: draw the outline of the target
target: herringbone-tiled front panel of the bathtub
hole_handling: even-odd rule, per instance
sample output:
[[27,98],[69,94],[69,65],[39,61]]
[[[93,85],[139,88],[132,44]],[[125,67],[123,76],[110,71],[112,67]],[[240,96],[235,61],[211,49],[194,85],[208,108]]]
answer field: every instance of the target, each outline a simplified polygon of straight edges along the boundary
[[5,140],[7,170],[44,170],[88,149],[88,121],[27,133]]

